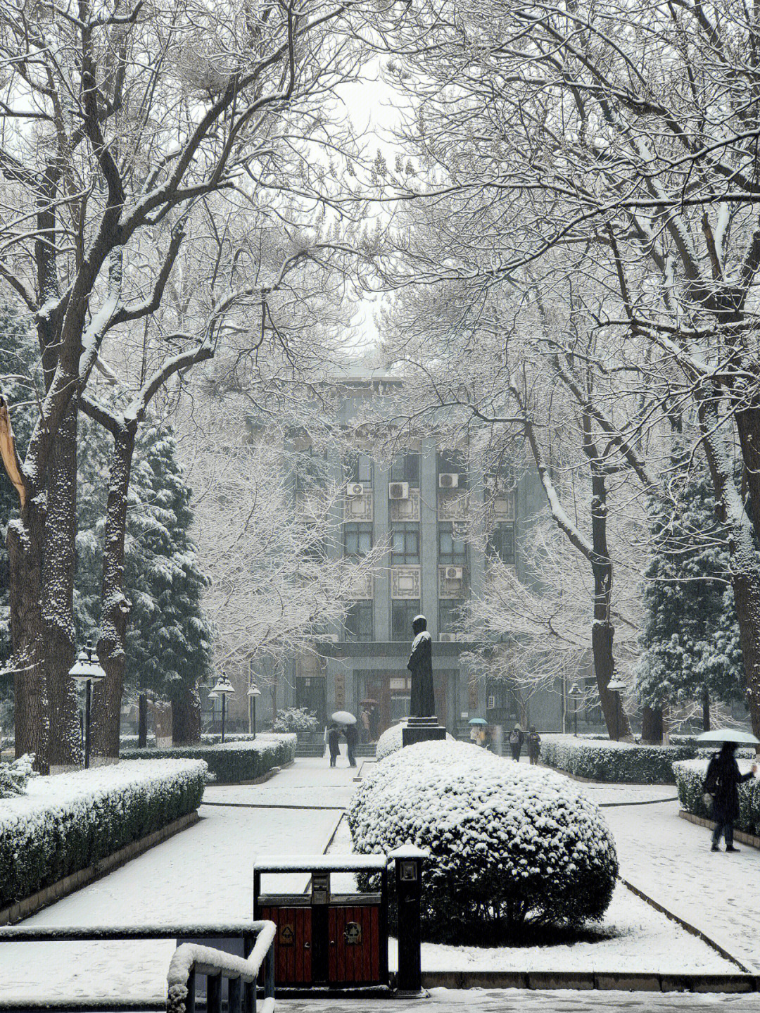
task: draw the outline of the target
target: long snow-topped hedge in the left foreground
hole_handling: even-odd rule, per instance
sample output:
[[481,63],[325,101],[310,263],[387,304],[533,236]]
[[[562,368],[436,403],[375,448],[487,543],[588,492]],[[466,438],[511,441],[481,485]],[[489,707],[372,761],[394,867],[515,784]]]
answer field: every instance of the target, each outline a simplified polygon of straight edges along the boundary
[[192,812],[204,782],[205,764],[186,760],[33,778],[0,800],[0,908]]

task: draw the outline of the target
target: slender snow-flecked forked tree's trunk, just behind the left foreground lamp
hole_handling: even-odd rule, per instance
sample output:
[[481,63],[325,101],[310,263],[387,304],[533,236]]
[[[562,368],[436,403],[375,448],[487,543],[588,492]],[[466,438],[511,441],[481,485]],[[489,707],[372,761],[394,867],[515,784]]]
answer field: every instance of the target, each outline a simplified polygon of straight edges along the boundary
[[98,657],[105,670],[105,679],[95,687],[93,695],[92,744],[93,753],[110,759],[118,758],[126,620],[132,609],[132,603],[123,592],[124,533],[126,494],[130,488],[136,431],[137,423],[119,425],[113,434],[113,457],[103,536],[103,587]]

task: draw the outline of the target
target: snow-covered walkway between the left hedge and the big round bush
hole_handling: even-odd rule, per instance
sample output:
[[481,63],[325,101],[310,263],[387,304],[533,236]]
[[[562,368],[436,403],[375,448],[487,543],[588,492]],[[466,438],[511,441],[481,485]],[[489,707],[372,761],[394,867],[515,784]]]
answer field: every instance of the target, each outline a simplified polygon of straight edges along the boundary
[[[320,761],[322,764],[322,761]],[[280,794],[307,789],[312,804],[339,791],[343,777],[353,788],[353,771],[332,772],[323,793],[324,772],[297,761],[263,785],[235,788],[236,800],[259,803],[278,779]],[[305,789],[301,788],[305,786]],[[206,789],[210,794],[220,788]],[[270,790],[265,797],[271,799]],[[350,794],[350,792],[349,792]],[[140,925],[146,922],[227,921],[250,918],[252,865],[257,854],[322,852],[340,812],[331,809],[262,809],[201,806],[202,819],[163,844],[27,919],[32,925]],[[277,877],[284,885],[285,877]],[[286,888],[303,889],[303,876]],[[130,997],[155,1002],[166,996],[166,972],[175,944],[156,942],[9,943],[0,946],[0,1006],[44,1003],[52,995],[75,999]]]

